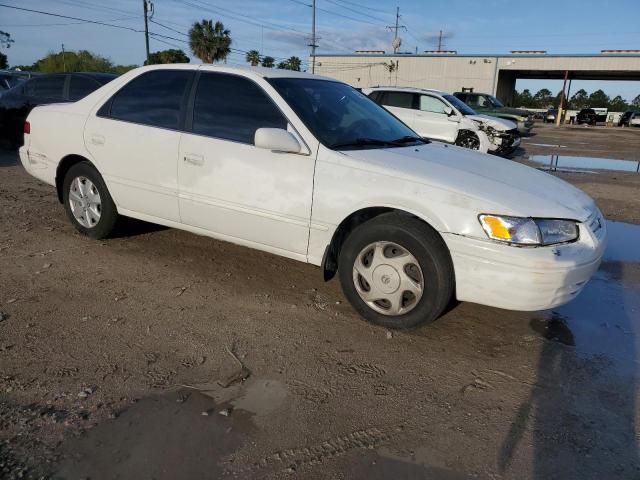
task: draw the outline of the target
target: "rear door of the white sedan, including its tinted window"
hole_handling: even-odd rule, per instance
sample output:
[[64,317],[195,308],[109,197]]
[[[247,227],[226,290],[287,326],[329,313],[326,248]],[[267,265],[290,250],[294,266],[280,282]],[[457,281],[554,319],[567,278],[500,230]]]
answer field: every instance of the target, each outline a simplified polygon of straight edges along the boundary
[[85,145],[121,213],[180,221],[178,148],[194,76],[147,71],[89,116]]

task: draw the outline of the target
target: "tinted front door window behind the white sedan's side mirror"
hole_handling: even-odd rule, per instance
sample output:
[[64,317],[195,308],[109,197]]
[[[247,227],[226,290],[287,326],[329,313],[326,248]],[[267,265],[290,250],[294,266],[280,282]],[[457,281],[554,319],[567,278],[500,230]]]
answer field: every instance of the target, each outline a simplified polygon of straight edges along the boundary
[[253,81],[203,72],[193,109],[193,133],[253,145],[258,128],[287,128],[287,120]]

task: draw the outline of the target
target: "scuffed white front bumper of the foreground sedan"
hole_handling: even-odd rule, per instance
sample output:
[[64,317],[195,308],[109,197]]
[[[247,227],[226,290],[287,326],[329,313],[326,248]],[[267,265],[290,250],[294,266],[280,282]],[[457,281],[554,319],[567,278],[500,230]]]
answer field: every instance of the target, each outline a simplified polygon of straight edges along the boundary
[[458,300],[535,311],[574,299],[600,265],[606,226],[600,212],[579,224],[580,238],[548,247],[514,247],[446,233]]

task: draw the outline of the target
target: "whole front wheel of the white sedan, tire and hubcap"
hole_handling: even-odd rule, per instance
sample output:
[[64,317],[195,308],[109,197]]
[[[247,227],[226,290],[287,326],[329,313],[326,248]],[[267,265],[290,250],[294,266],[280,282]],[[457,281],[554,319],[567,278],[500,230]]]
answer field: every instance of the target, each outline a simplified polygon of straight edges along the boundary
[[380,215],[353,230],[340,251],[338,274],[360,315],[394,329],[435,320],[454,290],[451,257],[440,235],[399,213]]

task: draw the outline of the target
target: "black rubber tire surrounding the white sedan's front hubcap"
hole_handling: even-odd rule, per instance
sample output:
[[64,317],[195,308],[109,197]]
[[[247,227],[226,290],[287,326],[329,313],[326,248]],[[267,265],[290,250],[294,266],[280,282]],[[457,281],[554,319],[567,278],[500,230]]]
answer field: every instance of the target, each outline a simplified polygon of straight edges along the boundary
[[[353,267],[367,245],[393,242],[411,253],[422,270],[425,288],[422,298],[407,313],[385,315],[369,307],[354,285]],[[413,328],[436,320],[454,293],[454,271],[449,250],[433,228],[415,217],[400,213],[379,215],[356,227],[347,237],[338,258],[342,290],[356,311],[376,325],[392,329]]]

